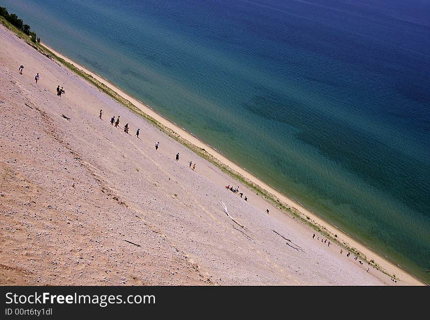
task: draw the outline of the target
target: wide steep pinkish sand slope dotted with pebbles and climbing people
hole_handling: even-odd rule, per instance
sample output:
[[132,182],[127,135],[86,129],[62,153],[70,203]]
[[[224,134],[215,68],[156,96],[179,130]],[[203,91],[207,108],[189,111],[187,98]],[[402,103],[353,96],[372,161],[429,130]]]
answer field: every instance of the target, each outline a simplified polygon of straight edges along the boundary
[[0,44],[0,284],[408,284],[312,239],[312,229],[3,26]]

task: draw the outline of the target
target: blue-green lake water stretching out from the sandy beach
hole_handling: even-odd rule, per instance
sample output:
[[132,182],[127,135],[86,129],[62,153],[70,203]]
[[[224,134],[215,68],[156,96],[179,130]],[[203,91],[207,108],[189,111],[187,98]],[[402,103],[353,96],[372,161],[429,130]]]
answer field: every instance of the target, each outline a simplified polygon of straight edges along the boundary
[[86,65],[430,281],[430,4],[3,0]]

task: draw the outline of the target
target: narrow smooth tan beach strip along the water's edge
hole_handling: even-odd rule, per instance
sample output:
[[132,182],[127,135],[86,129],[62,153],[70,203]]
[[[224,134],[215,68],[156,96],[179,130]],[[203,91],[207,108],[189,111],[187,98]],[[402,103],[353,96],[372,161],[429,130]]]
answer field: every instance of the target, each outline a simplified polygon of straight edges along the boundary
[[[146,116],[151,117],[156,122],[161,124],[163,127],[168,128],[172,131],[172,134],[174,135],[173,138],[176,139],[184,139],[185,142],[191,146],[194,146],[198,149],[201,149],[203,152],[206,152],[209,154],[210,157],[213,157],[217,162],[219,162],[221,165],[226,166],[230,171],[233,171],[233,173],[237,173],[239,176],[234,176],[230,172],[229,173],[233,178],[241,178],[243,177],[245,179],[245,182],[251,182],[251,184],[254,184],[257,188],[262,189],[263,191],[267,192],[269,196],[272,196],[275,199],[275,203],[273,202],[273,199],[268,198],[264,193],[259,194],[265,201],[277,206],[279,208],[279,203],[277,203],[276,200],[280,200],[283,204],[285,204],[288,211],[290,211],[291,215],[298,216],[303,224],[309,225],[312,229],[321,229],[319,230],[321,233],[324,233],[328,235],[330,238],[332,238],[334,241],[336,241],[338,244],[340,244],[343,247],[346,247],[347,249],[351,250],[354,249],[356,252],[359,252],[363,254],[368,261],[375,261],[375,265],[378,269],[380,269],[381,272],[389,275],[392,277],[392,275],[395,275],[396,279],[401,280],[407,285],[426,285],[426,283],[423,280],[420,280],[419,278],[415,277],[414,275],[408,273],[405,271],[401,266],[396,264],[395,262],[390,261],[388,258],[383,257],[382,254],[375,253],[372,249],[368,248],[365,244],[359,242],[358,240],[352,238],[350,235],[348,235],[346,232],[341,230],[340,228],[336,227],[333,224],[330,224],[326,220],[324,220],[322,217],[318,216],[316,213],[313,213],[312,211],[306,209],[304,206],[302,206],[298,201],[295,201],[288,196],[284,195],[274,187],[272,187],[270,184],[265,183],[261,179],[259,179],[257,176],[255,176],[252,172],[246,170],[245,168],[237,165],[230,159],[228,159],[225,155],[223,155],[220,151],[216,150],[215,148],[209,146],[202,140],[200,140],[198,137],[196,137],[193,133],[188,132],[185,128],[182,128],[181,126],[175,124],[174,122],[170,121],[157,111],[155,111],[150,106],[142,103],[140,100],[132,97],[127,92],[122,90],[117,85],[114,85],[104,77],[100,76],[99,74],[92,72],[88,68],[82,66],[81,64],[77,64],[76,62],[72,61],[68,57],[64,56],[60,52],[54,50],[50,46],[48,46],[45,43],[40,43],[43,47],[50,50],[52,53],[54,53],[57,57],[63,59],[65,62],[72,64],[74,67],[80,69],[82,72],[90,75],[94,79],[96,79],[98,82],[100,82],[103,85],[106,85],[110,90],[114,91],[116,94],[118,94],[123,99],[126,99],[131,103],[134,107],[138,108],[140,111],[142,111]],[[72,70],[73,71],[73,70]],[[94,85],[94,84],[92,84]],[[155,125],[157,125],[155,123]],[[179,141],[181,142],[181,141]],[[184,143],[183,143],[184,144]],[[186,146],[188,146],[185,144]],[[192,149],[195,151],[194,149]],[[196,152],[198,155],[198,152]],[[203,157],[205,158],[205,157]],[[209,159],[207,159],[209,160]],[[223,170],[221,168],[221,170]],[[223,170],[224,171],[224,170]],[[258,192],[260,193],[260,192]],[[279,201],[278,201],[279,202]],[[285,207],[284,206],[284,207]],[[280,211],[286,211],[285,209],[279,208]],[[286,213],[286,212],[285,212]],[[285,214],[284,213],[284,214]],[[309,217],[307,220],[306,218]],[[318,231],[318,230],[317,230]],[[335,235],[335,236],[333,236]]]

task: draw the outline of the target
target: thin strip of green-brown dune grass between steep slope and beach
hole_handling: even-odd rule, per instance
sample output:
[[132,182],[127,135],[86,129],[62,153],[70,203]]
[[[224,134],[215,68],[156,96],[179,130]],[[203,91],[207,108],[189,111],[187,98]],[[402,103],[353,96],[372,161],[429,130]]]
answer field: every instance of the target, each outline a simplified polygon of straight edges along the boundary
[[117,102],[119,102],[123,106],[128,107],[131,111],[133,111],[137,115],[145,118],[153,126],[155,126],[156,128],[159,128],[160,131],[166,133],[172,139],[178,141],[179,143],[181,143],[182,145],[184,145],[188,149],[191,149],[192,151],[194,151],[200,157],[202,157],[202,158],[206,159],[207,161],[209,161],[210,163],[214,164],[216,167],[221,169],[221,171],[230,175],[233,179],[246,185],[248,188],[250,188],[251,190],[256,192],[257,195],[266,199],[266,201],[268,201],[273,206],[280,209],[282,212],[292,215],[293,218],[297,218],[299,221],[301,221],[305,225],[308,225],[309,227],[311,227],[315,231],[319,232],[321,235],[324,235],[325,237],[327,237],[327,239],[331,240],[331,242],[337,243],[340,247],[349,251],[351,254],[357,256],[363,262],[367,262],[368,265],[375,267],[376,269],[380,270],[381,272],[383,272],[387,276],[392,277],[394,279],[398,279],[395,275],[388,274],[388,272],[384,268],[382,268],[380,265],[375,263],[374,260],[367,261],[366,256],[363,253],[359,252],[356,248],[350,247],[346,242],[340,242],[338,239],[336,239],[338,237],[338,235],[336,235],[336,234],[333,235],[324,226],[321,226],[320,224],[318,224],[317,222],[312,220],[309,216],[304,215],[303,213],[301,213],[296,208],[291,208],[288,205],[284,204],[275,195],[267,192],[266,190],[262,189],[260,186],[255,184],[254,182],[252,182],[249,179],[242,176],[237,171],[234,171],[230,167],[221,163],[218,159],[216,159],[212,154],[208,153],[205,149],[198,148],[194,144],[190,143],[188,140],[185,140],[179,134],[174,132],[171,128],[164,126],[163,124],[161,124],[160,122],[158,122],[157,120],[155,120],[154,118],[149,116],[148,114],[144,113],[141,109],[134,106],[129,100],[125,99],[124,97],[119,95],[117,92],[115,92],[114,90],[109,88],[107,85],[105,85],[104,83],[95,79],[93,76],[91,76],[91,75],[87,74],[86,72],[84,72],[83,70],[77,68],[74,64],[70,64],[67,61],[65,61],[64,59],[56,56],[53,52],[51,52],[48,48],[46,48],[42,44],[40,44],[38,42],[33,42],[31,40],[31,38],[28,35],[26,35],[21,29],[18,29],[17,27],[12,25],[10,22],[8,22],[6,19],[4,19],[1,16],[0,16],[0,21],[4,26],[6,26],[11,31],[13,31],[19,38],[23,39],[26,43],[28,43],[33,48],[35,48],[36,50],[41,52],[43,55],[45,55],[49,59],[55,59],[58,62],[60,62],[61,64],[64,64],[64,66],[69,68],[71,71],[73,71],[77,75],[85,78],[89,83],[91,83],[92,85],[95,85],[97,88],[99,88],[101,91],[108,94],[114,100],[116,100]]

